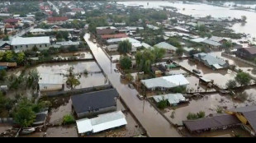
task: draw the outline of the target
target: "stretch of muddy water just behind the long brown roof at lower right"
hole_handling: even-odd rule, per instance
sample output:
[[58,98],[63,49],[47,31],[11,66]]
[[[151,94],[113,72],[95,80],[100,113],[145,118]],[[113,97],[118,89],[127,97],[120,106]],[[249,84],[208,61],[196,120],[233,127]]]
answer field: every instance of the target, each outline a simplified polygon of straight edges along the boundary
[[235,108],[235,107],[244,107],[246,104],[251,103],[240,103],[231,99],[229,96],[221,96],[221,95],[208,95],[202,99],[192,99],[189,104],[179,105],[177,109],[175,109],[174,118],[171,118],[173,113],[172,109],[166,109],[166,117],[168,117],[172,122],[182,125],[184,120],[187,120],[188,113],[198,113],[200,111],[204,111],[206,116],[210,113],[216,113],[216,108],[218,106],[222,108]]

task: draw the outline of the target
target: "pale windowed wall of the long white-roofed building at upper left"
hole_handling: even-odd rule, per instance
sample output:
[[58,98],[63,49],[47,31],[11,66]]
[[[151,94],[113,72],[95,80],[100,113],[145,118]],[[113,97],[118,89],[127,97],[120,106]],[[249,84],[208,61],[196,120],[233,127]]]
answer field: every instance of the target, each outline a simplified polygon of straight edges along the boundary
[[35,46],[39,50],[44,50],[44,49],[49,49],[50,48],[50,44],[21,44],[21,45],[14,45],[14,46],[12,46],[12,49],[13,50],[26,51],[26,50],[31,50]]

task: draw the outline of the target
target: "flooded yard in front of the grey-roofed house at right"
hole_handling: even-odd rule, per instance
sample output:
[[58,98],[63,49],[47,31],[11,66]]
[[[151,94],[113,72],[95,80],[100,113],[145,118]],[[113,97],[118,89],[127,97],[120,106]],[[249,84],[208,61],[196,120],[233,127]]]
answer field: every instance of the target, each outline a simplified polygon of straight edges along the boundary
[[189,61],[188,59],[178,60],[176,62],[189,71],[192,71],[193,69],[201,71],[200,76],[203,76],[209,80],[213,80],[214,84],[218,85],[220,88],[225,88],[225,84],[230,80],[234,80],[237,74],[235,71],[230,70],[213,71],[211,68],[206,67],[201,62],[196,63]]

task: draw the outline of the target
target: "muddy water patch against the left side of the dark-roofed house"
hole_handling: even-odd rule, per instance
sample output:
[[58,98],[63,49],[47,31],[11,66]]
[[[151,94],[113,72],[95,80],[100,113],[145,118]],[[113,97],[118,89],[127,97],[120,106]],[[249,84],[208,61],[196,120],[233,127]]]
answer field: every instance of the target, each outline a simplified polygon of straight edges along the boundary
[[69,99],[68,104],[64,104],[60,106],[59,108],[52,109],[50,112],[50,124],[61,124],[62,120],[65,115],[72,113],[72,102],[71,99]]

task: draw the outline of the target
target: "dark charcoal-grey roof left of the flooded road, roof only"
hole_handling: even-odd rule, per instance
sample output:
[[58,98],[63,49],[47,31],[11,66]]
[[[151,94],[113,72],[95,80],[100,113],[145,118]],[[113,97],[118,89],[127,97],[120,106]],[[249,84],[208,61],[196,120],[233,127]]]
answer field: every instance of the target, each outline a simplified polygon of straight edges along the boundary
[[107,108],[116,106],[115,97],[119,94],[115,89],[102,90],[82,95],[74,95],[71,97],[73,108],[76,113],[87,112],[96,108]]

